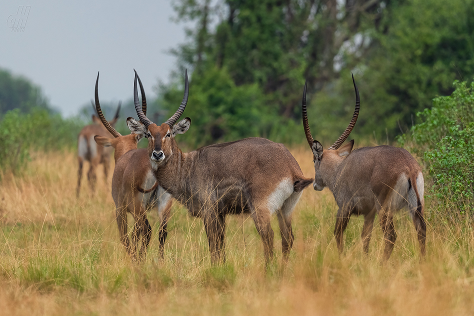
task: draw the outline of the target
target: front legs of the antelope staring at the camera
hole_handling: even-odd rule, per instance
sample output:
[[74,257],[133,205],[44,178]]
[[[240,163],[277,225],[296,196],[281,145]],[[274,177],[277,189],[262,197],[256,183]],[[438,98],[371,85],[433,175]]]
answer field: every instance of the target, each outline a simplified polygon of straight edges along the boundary
[[204,229],[208,236],[209,250],[211,251],[211,263],[218,264],[226,261],[224,253],[225,217],[222,214],[211,212],[204,215]]

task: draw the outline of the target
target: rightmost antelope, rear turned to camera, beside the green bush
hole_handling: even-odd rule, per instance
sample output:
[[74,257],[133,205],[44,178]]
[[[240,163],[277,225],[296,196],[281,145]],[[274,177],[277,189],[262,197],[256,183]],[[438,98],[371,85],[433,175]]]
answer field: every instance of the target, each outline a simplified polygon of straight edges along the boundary
[[303,90],[303,126],[306,139],[313,152],[313,187],[321,191],[328,187],[339,210],[334,235],[337,248],[343,251],[342,234],[351,215],[364,215],[362,241],[364,251],[369,251],[370,235],[375,214],[384,232],[384,259],[390,258],[397,237],[393,214],[408,208],[418,233],[421,256],[425,256],[426,224],[424,210],[424,180],[418,162],[406,150],[392,146],[363,147],[352,151],[354,141],[341,147],[351,133],[359,115],[359,91],[352,77],[356,93],[356,106],[349,126],[339,139],[324,150],[313,140],[306,112],[306,86]]

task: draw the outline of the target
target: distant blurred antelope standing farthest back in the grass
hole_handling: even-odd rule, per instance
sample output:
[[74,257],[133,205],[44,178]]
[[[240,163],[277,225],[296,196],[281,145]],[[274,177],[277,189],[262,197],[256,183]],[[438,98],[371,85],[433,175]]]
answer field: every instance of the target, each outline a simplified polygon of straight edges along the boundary
[[[117,123],[120,112],[120,105],[121,103],[119,102],[115,117],[112,121],[109,122],[111,126],[114,126],[115,123]],[[94,136],[100,135],[104,137],[112,137],[112,135],[109,133],[109,131],[107,131],[107,129],[104,128],[100,119],[97,116],[92,115],[92,122],[92,124],[86,125],[82,128],[77,140],[77,161],[79,162],[76,188],[77,197],[79,197],[79,192],[81,189],[82,166],[84,164],[84,161],[89,161],[89,171],[87,171],[87,179],[89,181],[89,187],[92,192],[95,189],[95,182],[97,179],[97,166],[100,163],[104,165],[104,174],[106,179],[109,173],[110,155],[112,154],[112,149],[97,146],[97,144],[94,142]]]

